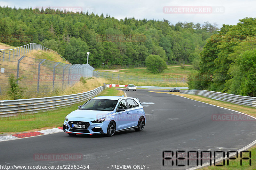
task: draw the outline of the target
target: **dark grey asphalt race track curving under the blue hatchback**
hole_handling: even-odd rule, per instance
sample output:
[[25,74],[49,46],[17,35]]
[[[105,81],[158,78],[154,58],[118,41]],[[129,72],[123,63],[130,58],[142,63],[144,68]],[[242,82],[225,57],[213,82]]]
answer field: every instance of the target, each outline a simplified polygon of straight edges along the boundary
[[[213,114],[238,113],[180,96],[149,91],[164,90],[126,91],[127,96],[139,98],[144,105],[146,125],[142,132],[123,131],[113,137],[69,136],[59,132],[3,141],[0,142],[0,165],[89,165],[90,170],[114,169],[114,165],[148,170],[187,169],[195,164],[181,167],[175,166],[175,162],[172,166],[165,161],[163,166],[163,151],[233,151],[255,140],[256,121],[213,121]],[[38,154],[64,153],[82,154],[83,159],[35,158]],[[115,167],[125,169],[124,166]]]

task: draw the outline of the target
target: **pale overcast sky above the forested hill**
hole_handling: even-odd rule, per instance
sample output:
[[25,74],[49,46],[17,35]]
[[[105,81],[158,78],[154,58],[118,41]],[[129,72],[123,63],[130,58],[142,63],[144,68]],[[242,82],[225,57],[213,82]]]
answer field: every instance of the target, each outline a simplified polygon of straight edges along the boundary
[[255,0],[0,0],[0,6],[16,8],[48,7],[70,8],[72,11],[89,11],[117,19],[168,19],[172,24],[193,22],[203,24],[208,21],[235,25],[245,17],[256,17]]

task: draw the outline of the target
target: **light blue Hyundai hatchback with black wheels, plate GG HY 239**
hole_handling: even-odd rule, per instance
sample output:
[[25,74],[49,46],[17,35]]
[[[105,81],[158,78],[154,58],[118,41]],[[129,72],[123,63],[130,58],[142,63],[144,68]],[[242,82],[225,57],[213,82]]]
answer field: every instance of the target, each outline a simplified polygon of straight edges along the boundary
[[120,96],[94,97],[65,117],[63,131],[69,135],[113,136],[115,132],[145,126],[145,111],[139,99]]

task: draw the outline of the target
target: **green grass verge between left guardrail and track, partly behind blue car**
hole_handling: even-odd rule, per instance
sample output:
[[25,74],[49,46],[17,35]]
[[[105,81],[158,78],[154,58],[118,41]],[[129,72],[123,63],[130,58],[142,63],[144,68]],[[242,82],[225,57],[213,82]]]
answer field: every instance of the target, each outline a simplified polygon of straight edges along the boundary
[[[107,88],[103,90],[98,96],[121,96],[122,91],[116,88]],[[39,112],[35,114],[19,114],[13,117],[2,117],[0,133],[6,132],[21,132],[33,129],[40,129],[45,127],[61,127],[65,116],[77,109],[77,106],[84,104],[76,103],[66,108],[59,108],[57,110]]]

